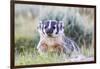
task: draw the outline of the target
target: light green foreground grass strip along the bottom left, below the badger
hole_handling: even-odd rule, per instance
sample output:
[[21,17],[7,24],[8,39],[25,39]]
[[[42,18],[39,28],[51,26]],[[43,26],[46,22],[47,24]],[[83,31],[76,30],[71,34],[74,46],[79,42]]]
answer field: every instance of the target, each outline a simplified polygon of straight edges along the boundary
[[48,64],[48,63],[61,63],[63,61],[62,56],[47,55],[47,54],[33,54],[25,52],[19,54],[15,58],[15,65],[31,65],[31,64]]

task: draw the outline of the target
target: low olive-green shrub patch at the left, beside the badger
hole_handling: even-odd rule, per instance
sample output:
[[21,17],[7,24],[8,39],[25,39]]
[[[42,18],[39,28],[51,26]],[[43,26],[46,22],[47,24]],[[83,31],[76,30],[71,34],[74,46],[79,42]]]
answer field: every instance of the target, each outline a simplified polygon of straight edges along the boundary
[[15,52],[22,53],[23,51],[34,51],[39,42],[39,35],[36,34],[33,38],[27,36],[15,37]]

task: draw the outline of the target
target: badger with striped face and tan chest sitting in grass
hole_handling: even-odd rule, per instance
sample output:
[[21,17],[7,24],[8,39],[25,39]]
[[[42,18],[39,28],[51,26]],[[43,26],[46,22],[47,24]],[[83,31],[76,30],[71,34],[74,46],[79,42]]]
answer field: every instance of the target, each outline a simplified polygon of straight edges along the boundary
[[64,34],[64,22],[57,20],[44,20],[38,24],[40,41],[37,49],[39,53],[58,53],[68,56],[78,55],[79,46]]

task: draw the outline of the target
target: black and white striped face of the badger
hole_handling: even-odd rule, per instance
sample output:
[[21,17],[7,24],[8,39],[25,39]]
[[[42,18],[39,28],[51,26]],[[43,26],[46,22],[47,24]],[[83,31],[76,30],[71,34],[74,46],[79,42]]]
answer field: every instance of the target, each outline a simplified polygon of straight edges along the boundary
[[56,20],[40,21],[38,31],[42,36],[57,37],[64,32],[64,23]]

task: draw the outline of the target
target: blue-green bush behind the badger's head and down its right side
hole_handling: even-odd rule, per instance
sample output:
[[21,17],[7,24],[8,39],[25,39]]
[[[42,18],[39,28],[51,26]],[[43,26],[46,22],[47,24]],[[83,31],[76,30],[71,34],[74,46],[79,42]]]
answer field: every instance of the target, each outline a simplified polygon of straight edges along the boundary
[[83,18],[80,14],[75,12],[59,12],[50,11],[43,15],[41,20],[57,20],[64,22],[64,33],[66,36],[74,40],[79,47],[86,46],[87,48],[92,44],[93,28],[85,30],[88,26],[84,26]]

